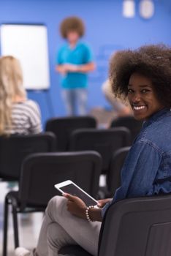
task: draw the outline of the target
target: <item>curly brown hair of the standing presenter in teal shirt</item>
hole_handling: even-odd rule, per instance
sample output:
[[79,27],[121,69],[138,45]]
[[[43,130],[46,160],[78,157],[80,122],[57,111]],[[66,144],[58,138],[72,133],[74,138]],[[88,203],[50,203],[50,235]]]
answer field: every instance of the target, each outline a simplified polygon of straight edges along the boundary
[[61,36],[66,38],[69,31],[76,31],[80,37],[85,33],[85,26],[83,20],[78,17],[69,17],[61,22],[60,26]]

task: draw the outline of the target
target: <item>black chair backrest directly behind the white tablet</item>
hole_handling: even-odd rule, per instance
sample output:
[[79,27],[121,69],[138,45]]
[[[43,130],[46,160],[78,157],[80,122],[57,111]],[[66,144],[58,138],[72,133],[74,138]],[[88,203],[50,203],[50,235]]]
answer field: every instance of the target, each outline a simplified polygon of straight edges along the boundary
[[55,195],[61,195],[55,184],[71,180],[93,197],[99,189],[102,158],[94,151],[32,154],[23,162],[20,176],[21,204],[47,206]]

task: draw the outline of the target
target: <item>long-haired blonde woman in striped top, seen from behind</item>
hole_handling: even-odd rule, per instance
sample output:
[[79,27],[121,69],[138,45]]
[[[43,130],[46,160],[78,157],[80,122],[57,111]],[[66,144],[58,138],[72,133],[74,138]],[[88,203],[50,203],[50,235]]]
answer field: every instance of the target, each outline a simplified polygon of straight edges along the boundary
[[20,62],[12,56],[0,59],[0,135],[42,132],[36,102],[27,99]]

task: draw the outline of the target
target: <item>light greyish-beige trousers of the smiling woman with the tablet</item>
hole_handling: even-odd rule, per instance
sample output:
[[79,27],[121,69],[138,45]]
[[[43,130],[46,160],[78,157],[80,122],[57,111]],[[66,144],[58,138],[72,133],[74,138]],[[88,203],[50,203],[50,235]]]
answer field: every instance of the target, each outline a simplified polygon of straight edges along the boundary
[[34,255],[58,256],[66,245],[78,244],[96,256],[101,222],[88,222],[66,209],[66,198],[56,196],[48,203]]

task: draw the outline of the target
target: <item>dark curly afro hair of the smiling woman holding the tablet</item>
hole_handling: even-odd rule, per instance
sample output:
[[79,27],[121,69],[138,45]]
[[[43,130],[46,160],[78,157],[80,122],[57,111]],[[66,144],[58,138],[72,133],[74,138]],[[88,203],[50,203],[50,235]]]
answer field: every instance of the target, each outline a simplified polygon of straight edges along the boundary
[[110,60],[110,83],[116,97],[126,98],[131,75],[137,72],[151,80],[162,105],[171,107],[171,48],[145,45],[137,50],[121,50]]

